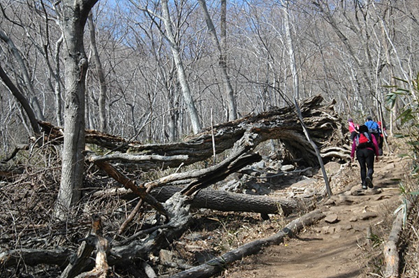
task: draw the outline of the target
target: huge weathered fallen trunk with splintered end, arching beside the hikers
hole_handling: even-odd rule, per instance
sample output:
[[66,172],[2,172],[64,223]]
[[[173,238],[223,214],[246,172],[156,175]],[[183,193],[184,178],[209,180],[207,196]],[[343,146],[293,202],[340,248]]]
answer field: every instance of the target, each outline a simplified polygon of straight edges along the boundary
[[[348,160],[349,150],[341,148],[341,152],[336,152],[336,149],[330,152],[329,147],[342,147],[346,144],[346,127],[341,124],[341,118],[333,109],[333,103],[321,105],[322,101],[321,96],[314,96],[300,106],[307,131],[311,140],[318,146],[324,162],[332,157]],[[54,142],[62,140],[62,129],[45,122],[39,124],[49,136],[47,139]],[[141,144],[98,131],[86,131],[86,142],[119,151],[101,156],[98,158],[100,160],[150,170],[177,168],[210,159],[213,156],[212,136],[216,154],[219,154],[233,148],[246,133],[253,138],[253,147],[266,140],[279,139],[293,159],[304,161],[307,166],[318,166],[316,152],[304,136],[293,105],[218,124],[213,129],[205,129],[202,133],[187,138],[184,142]],[[124,153],[127,151],[129,154]]]

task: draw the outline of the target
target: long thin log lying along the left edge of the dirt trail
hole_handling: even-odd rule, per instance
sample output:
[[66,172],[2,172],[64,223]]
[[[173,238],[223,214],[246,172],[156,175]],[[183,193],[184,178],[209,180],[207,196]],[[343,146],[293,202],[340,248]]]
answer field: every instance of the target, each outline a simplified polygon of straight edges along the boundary
[[175,275],[172,275],[171,278],[212,277],[213,275],[216,275],[217,273],[226,270],[228,268],[228,264],[233,263],[237,260],[241,260],[246,256],[258,253],[258,251],[260,251],[262,247],[266,247],[273,244],[279,244],[284,241],[284,237],[293,236],[296,233],[299,233],[302,230],[302,228],[304,228],[304,226],[314,224],[316,221],[323,219],[324,217],[325,214],[323,214],[323,212],[321,212],[320,210],[309,212],[307,214],[304,214],[302,217],[295,219],[294,221],[291,221],[290,224],[288,224],[284,229],[282,229],[279,233],[276,233],[275,235],[244,244],[233,251],[229,251],[219,256],[218,258],[214,258],[210,261],[207,261],[207,263],[204,263],[203,265],[198,265],[195,268],[184,270]]

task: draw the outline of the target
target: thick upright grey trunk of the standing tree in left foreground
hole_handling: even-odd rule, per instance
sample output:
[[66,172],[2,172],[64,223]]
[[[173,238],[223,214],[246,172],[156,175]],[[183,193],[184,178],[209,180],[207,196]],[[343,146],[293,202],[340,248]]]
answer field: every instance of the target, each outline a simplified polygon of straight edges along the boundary
[[64,110],[64,148],[61,184],[55,217],[64,219],[71,205],[78,202],[84,166],[84,90],[87,57],[84,52],[84,25],[98,0],[62,0],[56,3],[64,34],[64,67],[66,68],[66,103]]

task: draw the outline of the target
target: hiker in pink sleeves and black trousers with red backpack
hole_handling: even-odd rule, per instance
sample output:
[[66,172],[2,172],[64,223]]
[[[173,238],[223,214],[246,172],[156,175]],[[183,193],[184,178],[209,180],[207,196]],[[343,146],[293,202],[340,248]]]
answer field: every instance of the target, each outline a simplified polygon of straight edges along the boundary
[[367,126],[363,124],[358,129],[359,134],[353,138],[351,161],[353,162],[356,151],[356,159],[360,163],[361,168],[361,185],[362,189],[374,188],[372,184],[372,174],[374,174],[374,155],[378,162],[378,144],[375,136],[368,132]]

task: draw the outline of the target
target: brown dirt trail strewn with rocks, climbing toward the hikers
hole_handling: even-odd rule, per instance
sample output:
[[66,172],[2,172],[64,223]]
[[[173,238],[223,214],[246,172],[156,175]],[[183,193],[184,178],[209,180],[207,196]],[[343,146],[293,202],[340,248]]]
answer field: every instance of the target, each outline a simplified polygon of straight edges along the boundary
[[[335,196],[319,207],[325,219],[307,227],[297,238],[244,258],[223,277],[371,277],[366,265],[374,259],[374,243],[366,237],[369,227],[380,235],[383,226],[391,226],[392,219],[386,216],[400,204],[397,179],[405,173],[403,165],[396,156],[383,157],[375,166],[374,189],[367,191],[358,185],[359,167],[349,169],[353,180],[347,189],[334,192]],[[336,223],[327,222],[334,217]],[[374,251],[380,253],[381,245]]]

